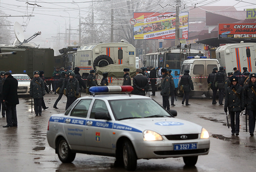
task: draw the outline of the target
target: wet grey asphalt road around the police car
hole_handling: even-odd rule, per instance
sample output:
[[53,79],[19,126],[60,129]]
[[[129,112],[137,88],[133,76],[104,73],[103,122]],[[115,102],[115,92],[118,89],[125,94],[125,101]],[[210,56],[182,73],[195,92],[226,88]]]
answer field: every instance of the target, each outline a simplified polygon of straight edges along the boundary
[[[59,109],[52,108],[57,98],[58,94],[45,95],[45,103],[49,108],[43,111],[42,116],[35,116],[34,111],[31,114],[31,98],[19,98],[18,127],[0,127],[0,172],[125,171],[111,167],[115,160],[112,157],[76,154],[73,163],[64,164],[59,161],[58,155],[49,147],[46,139],[50,115],[65,112],[65,96],[58,104]],[[159,91],[154,99],[162,104]],[[136,171],[254,172],[256,136],[251,137],[249,131],[245,131],[245,116],[240,117],[239,136],[231,136],[223,105],[212,105],[210,99],[203,97],[193,97],[189,103],[191,106],[181,105],[181,98],[177,97],[174,102],[176,106],[171,109],[178,111],[177,118],[194,122],[207,129],[211,141],[209,155],[199,156],[194,167],[184,166],[182,158],[140,159]],[[6,119],[0,117],[0,126],[3,125],[6,125]]]

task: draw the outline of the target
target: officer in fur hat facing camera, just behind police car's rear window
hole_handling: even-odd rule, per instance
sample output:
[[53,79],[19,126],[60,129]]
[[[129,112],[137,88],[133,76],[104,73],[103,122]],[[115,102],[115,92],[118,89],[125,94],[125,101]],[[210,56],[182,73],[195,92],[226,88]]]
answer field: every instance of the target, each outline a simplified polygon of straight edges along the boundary
[[68,95],[67,108],[77,99],[80,94],[80,88],[78,80],[75,78],[75,73],[69,73],[68,85],[66,88],[66,94]]

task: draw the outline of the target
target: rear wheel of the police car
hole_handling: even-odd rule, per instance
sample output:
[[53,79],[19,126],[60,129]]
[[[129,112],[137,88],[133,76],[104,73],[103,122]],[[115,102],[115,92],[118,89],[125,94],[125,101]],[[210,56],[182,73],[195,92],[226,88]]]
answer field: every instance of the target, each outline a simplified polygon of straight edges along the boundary
[[76,157],[76,153],[71,152],[68,143],[64,138],[58,140],[56,150],[60,161],[63,163],[72,162]]

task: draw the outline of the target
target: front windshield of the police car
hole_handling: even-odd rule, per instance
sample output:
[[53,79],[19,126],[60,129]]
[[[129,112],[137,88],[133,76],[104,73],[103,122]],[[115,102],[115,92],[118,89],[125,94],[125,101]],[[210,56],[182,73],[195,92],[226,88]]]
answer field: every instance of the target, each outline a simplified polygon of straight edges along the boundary
[[171,117],[163,107],[152,99],[110,100],[109,104],[116,120]]

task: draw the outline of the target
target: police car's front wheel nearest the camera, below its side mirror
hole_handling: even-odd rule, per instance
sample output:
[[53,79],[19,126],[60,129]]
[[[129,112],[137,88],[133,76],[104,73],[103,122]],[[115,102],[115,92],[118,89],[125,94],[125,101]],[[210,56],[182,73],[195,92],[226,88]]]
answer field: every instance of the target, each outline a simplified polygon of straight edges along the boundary
[[134,171],[137,167],[137,155],[130,141],[125,141],[122,147],[124,168],[128,171]]

